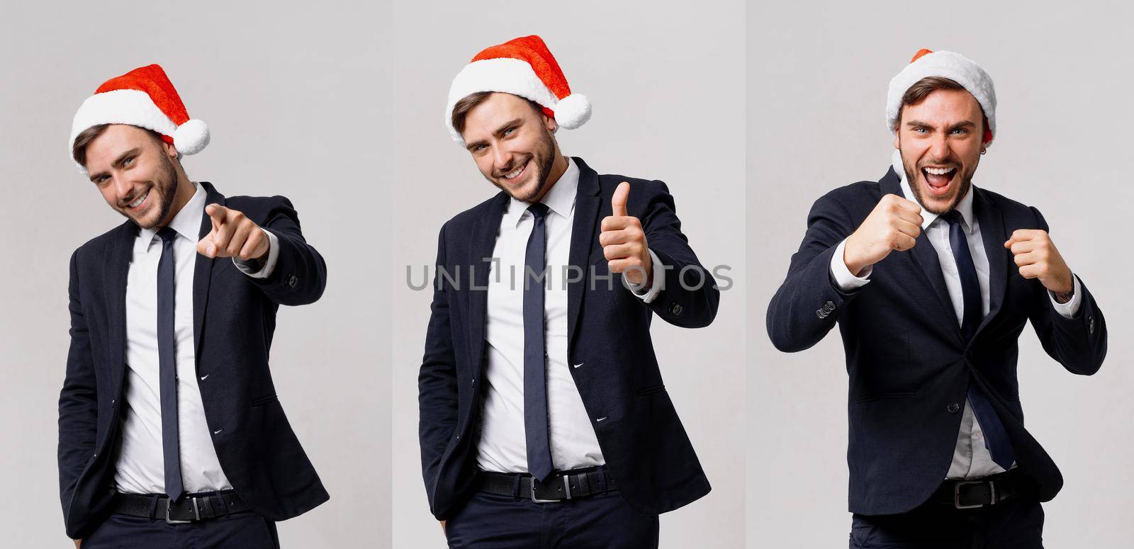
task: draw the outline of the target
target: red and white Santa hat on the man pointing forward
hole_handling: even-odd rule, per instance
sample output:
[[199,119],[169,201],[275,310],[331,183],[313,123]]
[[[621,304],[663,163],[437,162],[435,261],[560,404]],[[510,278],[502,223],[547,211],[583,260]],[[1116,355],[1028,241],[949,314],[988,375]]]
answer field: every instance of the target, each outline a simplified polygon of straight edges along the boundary
[[[209,144],[209,126],[189,119],[185,103],[159,65],[139,67],[104,82],[83,101],[71,121],[68,153],[75,137],[92,126],[128,124],[154,130],[180,154],[196,154]],[[79,166],[86,172],[86,167]]]

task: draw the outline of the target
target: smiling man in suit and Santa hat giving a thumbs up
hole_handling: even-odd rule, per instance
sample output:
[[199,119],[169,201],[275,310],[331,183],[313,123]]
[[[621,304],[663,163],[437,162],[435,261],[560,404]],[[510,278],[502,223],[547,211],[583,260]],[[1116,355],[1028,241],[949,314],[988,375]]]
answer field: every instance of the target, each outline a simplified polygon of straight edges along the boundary
[[441,228],[418,378],[430,508],[454,548],[657,547],[709,491],[650,341],[718,289],[665,184],[599,175],[555,137],[590,117],[539,36],[479,53],[446,121],[501,189]]

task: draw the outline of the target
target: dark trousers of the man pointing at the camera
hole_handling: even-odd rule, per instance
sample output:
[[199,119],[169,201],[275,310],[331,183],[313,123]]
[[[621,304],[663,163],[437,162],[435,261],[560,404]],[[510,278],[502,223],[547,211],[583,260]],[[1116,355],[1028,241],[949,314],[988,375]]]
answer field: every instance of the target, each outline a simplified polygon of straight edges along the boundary
[[83,549],[279,549],[276,523],[235,513],[188,524],[113,513],[83,540]]

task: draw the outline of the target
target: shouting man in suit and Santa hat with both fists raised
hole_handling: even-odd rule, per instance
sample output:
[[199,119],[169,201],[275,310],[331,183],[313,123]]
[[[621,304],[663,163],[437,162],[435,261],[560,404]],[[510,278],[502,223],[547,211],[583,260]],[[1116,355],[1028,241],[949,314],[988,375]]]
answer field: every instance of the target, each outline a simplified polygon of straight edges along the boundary
[[972,185],[996,134],[992,79],[922,50],[890,83],[879,181],[815,202],[768,307],[780,350],[839,324],[849,373],[850,547],[1039,548],[1063,478],[1024,429],[1017,337],[1089,375],[1102,312],[1040,212]]

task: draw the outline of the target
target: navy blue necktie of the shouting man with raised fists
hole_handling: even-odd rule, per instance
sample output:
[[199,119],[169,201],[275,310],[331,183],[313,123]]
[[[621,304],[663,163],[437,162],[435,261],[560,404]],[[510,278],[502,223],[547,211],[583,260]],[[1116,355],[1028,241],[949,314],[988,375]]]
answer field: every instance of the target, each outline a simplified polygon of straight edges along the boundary
[[[968,238],[960,225],[960,213],[953,210],[942,218],[949,223],[949,247],[953,248],[953,259],[957,263],[957,276],[960,277],[960,293],[964,296],[960,332],[967,343],[976,335],[976,329],[984,318],[981,287],[976,279],[973,255],[968,251]],[[968,404],[972,405],[973,414],[976,415],[981,431],[984,432],[984,446],[989,449],[992,461],[1007,471],[1016,461],[1008,433],[1004,430],[1004,423],[1000,422],[988,396],[972,381],[968,383]]]

